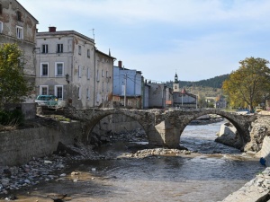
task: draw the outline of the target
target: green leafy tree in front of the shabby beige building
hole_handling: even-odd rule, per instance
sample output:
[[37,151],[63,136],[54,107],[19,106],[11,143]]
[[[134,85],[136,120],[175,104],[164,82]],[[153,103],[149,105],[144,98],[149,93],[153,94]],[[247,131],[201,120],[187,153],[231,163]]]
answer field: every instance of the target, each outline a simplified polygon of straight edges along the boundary
[[0,108],[4,103],[24,101],[31,91],[23,77],[23,51],[17,44],[0,46]]

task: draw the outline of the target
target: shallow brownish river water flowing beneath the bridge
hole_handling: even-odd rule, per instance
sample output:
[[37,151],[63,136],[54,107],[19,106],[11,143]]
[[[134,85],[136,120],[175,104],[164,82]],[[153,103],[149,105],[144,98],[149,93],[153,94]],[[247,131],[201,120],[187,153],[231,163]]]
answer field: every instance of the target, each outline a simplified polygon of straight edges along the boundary
[[[181,136],[196,154],[143,159],[72,162],[67,177],[46,182],[22,194],[19,201],[52,201],[46,196],[67,193],[70,201],[220,201],[240,189],[263,167],[257,159],[214,142],[220,123],[187,126]],[[103,153],[127,153],[112,145]],[[71,176],[71,171],[80,172]]]

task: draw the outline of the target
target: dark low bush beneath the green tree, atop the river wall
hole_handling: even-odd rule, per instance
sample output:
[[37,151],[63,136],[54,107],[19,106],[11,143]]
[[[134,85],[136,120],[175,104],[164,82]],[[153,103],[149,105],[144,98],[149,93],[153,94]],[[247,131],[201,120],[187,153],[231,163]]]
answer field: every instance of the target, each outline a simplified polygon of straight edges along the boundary
[[23,124],[23,112],[21,110],[0,110],[0,125],[14,126]]

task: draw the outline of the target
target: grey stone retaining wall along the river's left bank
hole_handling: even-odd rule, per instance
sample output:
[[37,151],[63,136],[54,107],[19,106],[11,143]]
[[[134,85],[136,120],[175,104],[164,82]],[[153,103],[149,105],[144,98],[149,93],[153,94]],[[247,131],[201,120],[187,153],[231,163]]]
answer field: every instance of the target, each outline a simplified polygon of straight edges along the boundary
[[55,122],[49,127],[34,127],[0,133],[0,166],[20,165],[52,154],[58,142],[74,145],[82,137],[81,123]]

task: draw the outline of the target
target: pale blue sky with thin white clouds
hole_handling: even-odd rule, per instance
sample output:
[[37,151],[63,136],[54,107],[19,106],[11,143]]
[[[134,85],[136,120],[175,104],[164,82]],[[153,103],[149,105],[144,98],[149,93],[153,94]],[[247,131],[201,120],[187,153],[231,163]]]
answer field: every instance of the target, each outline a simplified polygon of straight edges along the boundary
[[269,0],[18,0],[39,31],[77,31],[153,82],[230,74],[270,59]]

